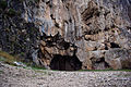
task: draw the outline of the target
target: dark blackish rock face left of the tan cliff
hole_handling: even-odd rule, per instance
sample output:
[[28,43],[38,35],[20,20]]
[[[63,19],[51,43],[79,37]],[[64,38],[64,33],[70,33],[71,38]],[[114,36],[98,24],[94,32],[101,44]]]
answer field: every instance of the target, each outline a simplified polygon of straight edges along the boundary
[[38,28],[26,22],[22,0],[0,0],[0,48],[21,58],[31,58],[39,39]]

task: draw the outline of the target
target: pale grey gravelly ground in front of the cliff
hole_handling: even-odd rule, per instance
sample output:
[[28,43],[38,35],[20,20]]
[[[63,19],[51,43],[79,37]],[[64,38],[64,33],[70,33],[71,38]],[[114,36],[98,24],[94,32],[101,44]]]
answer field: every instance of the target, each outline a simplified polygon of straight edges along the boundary
[[130,87],[131,72],[59,72],[0,63],[0,87]]

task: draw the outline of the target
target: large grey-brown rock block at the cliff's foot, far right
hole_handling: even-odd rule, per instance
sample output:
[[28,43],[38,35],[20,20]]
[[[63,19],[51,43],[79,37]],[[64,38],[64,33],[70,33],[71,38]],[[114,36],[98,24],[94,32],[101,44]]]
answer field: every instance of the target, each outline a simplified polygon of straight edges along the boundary
[[111,49],[105,53],[105,61],[112,69],[131,69],[131,49]]

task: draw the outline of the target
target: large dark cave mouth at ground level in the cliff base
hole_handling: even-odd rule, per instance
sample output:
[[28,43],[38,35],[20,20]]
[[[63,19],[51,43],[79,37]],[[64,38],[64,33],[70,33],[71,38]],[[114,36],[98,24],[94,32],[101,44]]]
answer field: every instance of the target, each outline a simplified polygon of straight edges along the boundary
[[53,59],[50,62],[51,70],[58,71],[78,71],[81,70],[82,62],[78,59],[76,55],[53,55]]

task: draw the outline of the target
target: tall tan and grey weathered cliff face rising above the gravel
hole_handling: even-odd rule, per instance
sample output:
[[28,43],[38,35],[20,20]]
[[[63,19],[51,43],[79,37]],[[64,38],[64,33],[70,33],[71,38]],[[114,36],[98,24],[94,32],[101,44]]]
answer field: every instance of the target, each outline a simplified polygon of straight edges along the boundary
[[[8,8],[12,8],[12,4],[16,2],[19,1],[8,0]],[[61,62],[64,61],[63,69],[60,70],[131,69],[129,64],[131,61],[130,5],[131,0],[23,0],[16,5],[16,9],[13,7],[16,11],[20,9],[21,15],[19,17],[23,22],[13,23],[33,24],[35,27],[35,32],[27,33],[27,35],[33,33],[33,37],[26,38],[29,40],[25,44],[28,49],[24,49],[24,52],[28,50],[29,53],[33,53],[33,61],[38,65],[59,70],[62,64],[57,63],[57,61],[52,64],[52,61],[55,58],[60,58],[63,59]],[[9,10],[7,8],[4,10],[4,7],[2,9],[4,12]],[[1,13],[2,15],[4,13]],[[9,20],[12,22],[13,17],[9,17]],[[0,20],[9,21],[2,17]],[[5,22],[0,24],[3,30],[5,30],[3,25],[11,24]],[[23,25],[22,28],[24,28],[22,32],[26,32],[31,25],[27,28]],[[8,35],[1,37],[3,38],[3,36],[7,38]],[[20,37],[23,36],[20,35]],[[11,41],[4,46],[7,40],[2,38],[0,38],[0,48],[7,51]],[[16,41],[16,44],[20,42]],[[39,47],[33,49],[32,44],[34,47],[37,45]],[[34,52],[31,52],[32,49]],[[120,57],[117,58],[119,52],[114,52],[114,49],[123,51],[120,52],[123,54],[118,54]],[[58,59],[59,62],[60,59]],[[72,62],[71,59],[78,61],[73,60]]]

